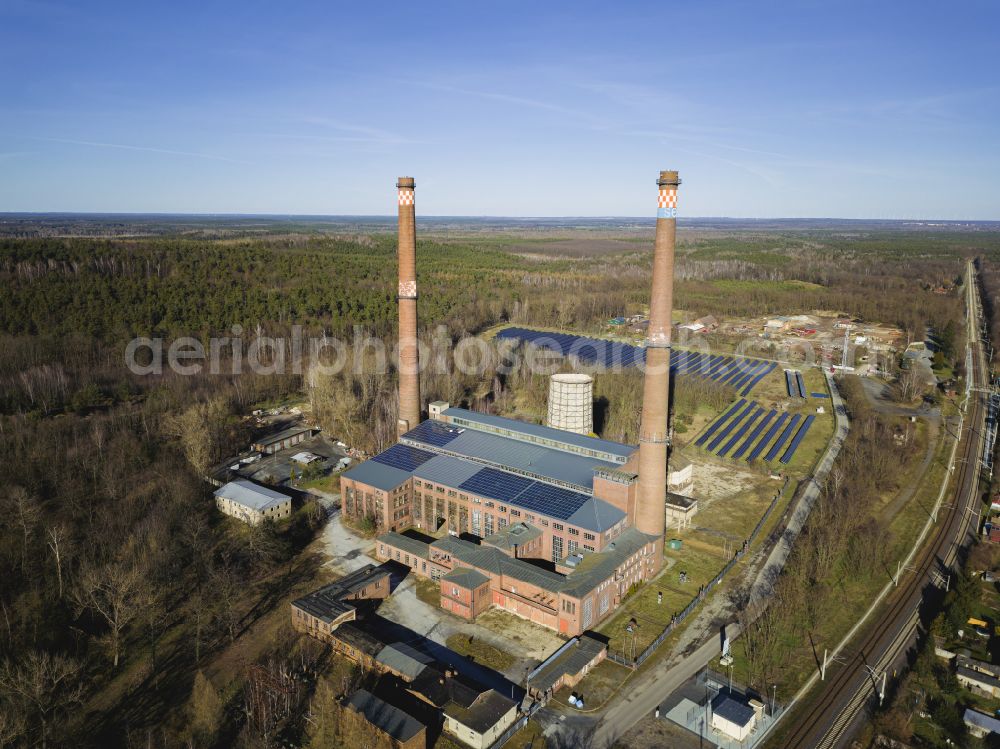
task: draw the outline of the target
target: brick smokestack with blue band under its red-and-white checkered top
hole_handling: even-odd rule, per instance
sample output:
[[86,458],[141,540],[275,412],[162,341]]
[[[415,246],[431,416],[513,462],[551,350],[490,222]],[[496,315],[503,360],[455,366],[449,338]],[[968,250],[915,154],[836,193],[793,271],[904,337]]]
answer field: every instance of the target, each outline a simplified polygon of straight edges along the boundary
[[[674,302],[674,242],[677,236],[677,172],[660,172],[656,181],[656,240],[653,290],[649,302],[646,375],[639,428],[639,492],[635,526],[663,542],[667,494],[667,419],[670,392],[670,322]],[[657,559],[661,560],[660,555]],[[660,561],[657,562],[657,566]]]

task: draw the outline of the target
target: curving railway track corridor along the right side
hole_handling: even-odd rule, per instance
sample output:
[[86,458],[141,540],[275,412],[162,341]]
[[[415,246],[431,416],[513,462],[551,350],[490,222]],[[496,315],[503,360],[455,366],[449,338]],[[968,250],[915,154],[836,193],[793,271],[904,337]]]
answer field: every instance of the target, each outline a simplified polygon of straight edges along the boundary
[[[974,277],[970,274],[970,280]],[[971,284],[970,284],[971,286]],[[978,329],[978,303],[970,292],[971,329]],[[976,387],[984,383],[985,366],[978,337],[970,340],[974,348],[972,382]],[[939,581],[950,574],[952,564],[966,540],[977,500],[980,480],[979,454],[981,452],[981,425],[986,409],[986,398],[979,390],[969,394],[969,413],[960,435],[956,461],[957,482],[954,501],[947,506],[947,514],[933,529],[913,562],[911,572],[901,576],[899,586],[889,595],[875,618],[842,653],[839,666],[828,670],[828,680],[821,691],[798,713],[788,716],[792,724],[780,739],[781,747],[794,749],[830,749],[836,747],[847,735],[870,704],[878,701],[883,679],[894,676],[894,665],[899,665],[910,647],[920,620],[920,609],[925,595],[933,591]]]

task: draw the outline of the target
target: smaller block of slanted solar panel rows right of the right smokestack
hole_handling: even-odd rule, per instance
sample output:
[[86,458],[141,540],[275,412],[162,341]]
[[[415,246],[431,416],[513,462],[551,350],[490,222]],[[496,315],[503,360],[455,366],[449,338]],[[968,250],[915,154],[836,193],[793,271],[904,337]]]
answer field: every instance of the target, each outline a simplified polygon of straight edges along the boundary
[[[734,460],[742,458],[749,450],[746,461],[753,463],[764,450],[767,450],[764,460],[774,460],[787,443],[779,460],[788,463],[815,420],[815,416],[803,419],[800,414],[789,418],[787,413],[765,410],[752,401],[740,400],[709,425],[694,444],[720,458],[731,457]],[[733,448],[736,448],[735,451]]]

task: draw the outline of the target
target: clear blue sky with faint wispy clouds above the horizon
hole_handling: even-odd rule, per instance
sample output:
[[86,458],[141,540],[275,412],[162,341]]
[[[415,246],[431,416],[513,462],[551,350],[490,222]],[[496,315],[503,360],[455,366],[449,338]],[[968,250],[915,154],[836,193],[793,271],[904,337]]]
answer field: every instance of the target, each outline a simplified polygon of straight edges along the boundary
[[0,211],[1000,219],[982,2],[0,0]]

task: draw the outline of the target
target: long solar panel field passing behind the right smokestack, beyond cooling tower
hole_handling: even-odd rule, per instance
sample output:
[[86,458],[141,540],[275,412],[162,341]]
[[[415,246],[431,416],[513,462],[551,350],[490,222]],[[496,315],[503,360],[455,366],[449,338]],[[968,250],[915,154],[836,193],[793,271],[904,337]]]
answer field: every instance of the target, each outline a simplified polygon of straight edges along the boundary
[[[505,328],[497,333],[501,340],[523,341],[563,356],[573,356],[583,364],[613,367],[637,367],[646,361],[646,350],[617,341],[570,335],[543,333],[527,328]],[[674,375],[696,375],[729,385],[747,396],[758,382],[777,365],[757,359],[745,359],[726,354],[706,354],[699,351],[672,351],[670,372]]]

